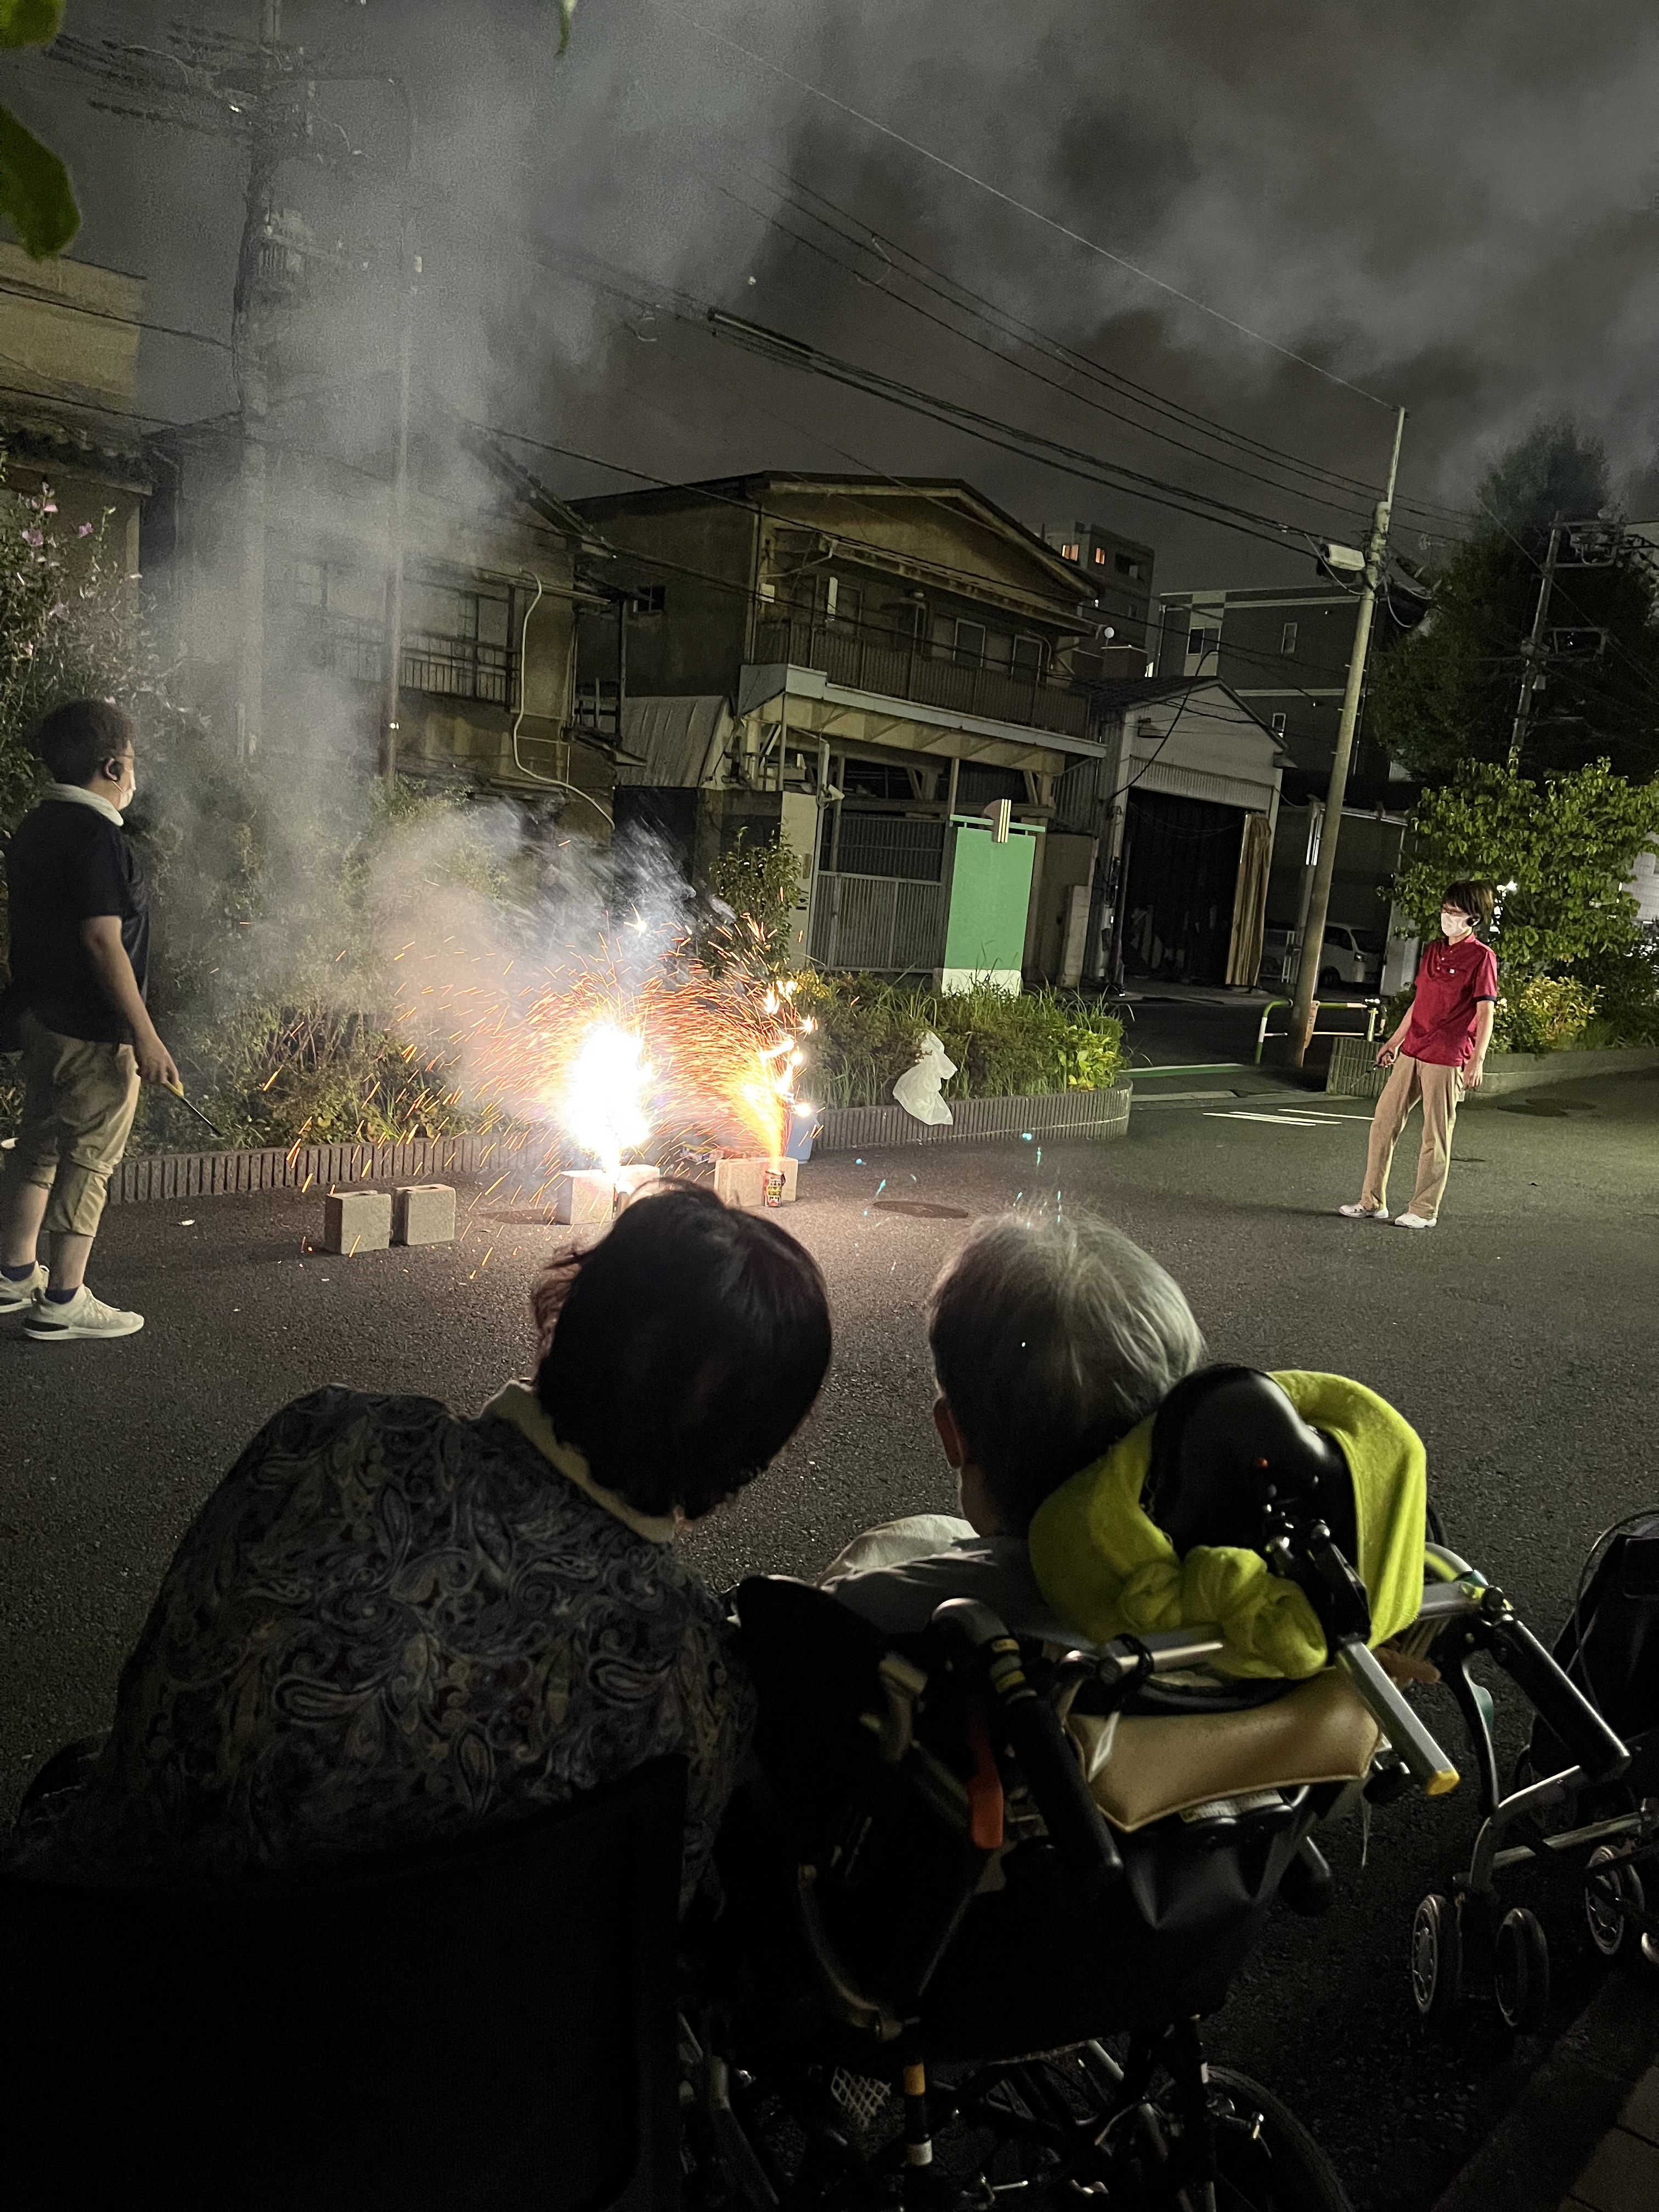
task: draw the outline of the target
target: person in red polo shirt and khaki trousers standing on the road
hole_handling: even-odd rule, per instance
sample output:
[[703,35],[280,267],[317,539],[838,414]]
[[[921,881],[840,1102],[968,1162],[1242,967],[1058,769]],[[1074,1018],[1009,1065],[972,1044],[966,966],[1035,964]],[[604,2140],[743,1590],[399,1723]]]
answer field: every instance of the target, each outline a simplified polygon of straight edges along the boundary
[[1464,1091],[1480,1091],[1491,1018],[1498,1004],[1498,956],[1475,929],[1491,922],[1491,885],[1453,883],[1440,900],[1440,936],[1418,962],[1411,1011],[1376,1055],[1394,1068],[1371,1117],[1365,1190],[1358,1206],[1338,1206],[1349,1221],[1387,1221],[1389,1161],[1411,1108],[1422,1099],[1418,1188],[1396,1230],[1431,1230],[1451,1166],[1451,1124]]

